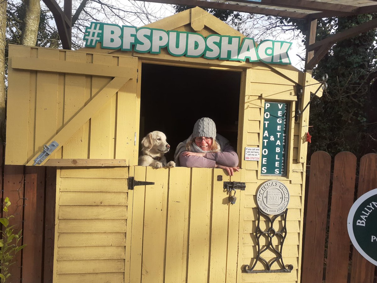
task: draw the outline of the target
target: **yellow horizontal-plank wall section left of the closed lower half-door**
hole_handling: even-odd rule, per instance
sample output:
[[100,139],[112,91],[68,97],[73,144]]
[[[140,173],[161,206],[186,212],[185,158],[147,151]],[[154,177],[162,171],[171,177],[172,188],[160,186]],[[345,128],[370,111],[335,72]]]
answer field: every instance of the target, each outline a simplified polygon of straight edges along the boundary
[[128,171],[58,170],[54,282],[124,282]]

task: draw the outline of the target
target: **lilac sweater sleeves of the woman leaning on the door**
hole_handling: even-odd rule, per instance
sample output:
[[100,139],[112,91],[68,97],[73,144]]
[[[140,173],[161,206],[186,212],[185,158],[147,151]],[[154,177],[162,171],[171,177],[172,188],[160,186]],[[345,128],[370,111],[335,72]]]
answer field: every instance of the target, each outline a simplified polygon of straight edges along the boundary
[[215,168],[216,163],[236,167],[238,165],[238,155],[231,145],[226,145],[222,152],[207,152],[201,156],[183,156],[179,154],[179,162],[182,167]]

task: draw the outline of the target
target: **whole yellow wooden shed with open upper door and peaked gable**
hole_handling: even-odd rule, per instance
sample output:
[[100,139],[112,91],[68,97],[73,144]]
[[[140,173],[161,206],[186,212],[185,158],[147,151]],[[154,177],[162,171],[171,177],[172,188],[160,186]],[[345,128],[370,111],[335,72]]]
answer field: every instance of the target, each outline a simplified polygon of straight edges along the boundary
[[[146,27],[245,38],[198,7]],[[9,46],[5,162],[57,167],[57,197],[48,200],[56,201],[54,282],[299,282],[309,108],[302,110],[318,82],[291,65],[166,49]],[[147,132],[165,132],[175,148],[201,117],[237,149],[234,176],[137,166]],[[284,121],[284,161],[264,156],[280,138],[268,133],[271,117]],[[135,180],[154,184],[133,188]],[[273,224],[286,233],[263,255],[274,262],[268,268],[256,233],[271,223],[258,218],[256,194],[271,180],[290,201]],[[245,183],[233,205],[224,182]]]

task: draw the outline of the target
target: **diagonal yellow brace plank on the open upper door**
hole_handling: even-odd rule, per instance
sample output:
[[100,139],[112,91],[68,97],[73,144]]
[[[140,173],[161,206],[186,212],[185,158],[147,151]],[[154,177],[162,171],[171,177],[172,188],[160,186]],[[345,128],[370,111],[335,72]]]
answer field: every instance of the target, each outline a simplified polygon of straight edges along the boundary
[[[81,109],[68,123],[61,129],[47,144],[50,145],[53,141],[58,143],[58,146],[55,150],[61,148],[66,141],[72,137],[72,135],[81,128],[81,126],[86,123],[101,107],[109,100],[119,89],[127,83],[130,78],[121,78],[115,77],[109,82],[98,94],[90,100],[90,102]],[[37,153],[31,160],[28,161],[26,165],[34,165],[35,159],[38,157],[40,153]],[[51,156],[51,155],[49,155]],[[43,165],[49,160],[49,156],[41,162],[40,164],[35,165]]]

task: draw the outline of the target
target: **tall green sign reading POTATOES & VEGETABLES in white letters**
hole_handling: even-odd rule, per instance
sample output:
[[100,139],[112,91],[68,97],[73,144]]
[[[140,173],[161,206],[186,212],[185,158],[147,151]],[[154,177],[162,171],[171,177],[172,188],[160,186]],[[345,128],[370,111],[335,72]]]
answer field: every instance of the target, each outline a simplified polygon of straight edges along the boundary
[[265,102],[261,175],[287,175],[289,104]]

